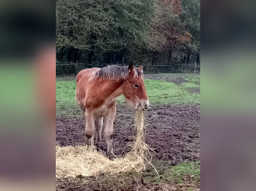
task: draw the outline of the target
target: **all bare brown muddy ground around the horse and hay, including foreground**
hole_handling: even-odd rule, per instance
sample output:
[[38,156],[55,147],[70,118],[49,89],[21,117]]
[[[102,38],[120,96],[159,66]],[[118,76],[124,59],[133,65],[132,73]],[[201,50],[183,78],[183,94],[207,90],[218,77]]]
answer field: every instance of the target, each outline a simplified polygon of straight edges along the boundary
[[[145,78],[164,80],[180,85],[189,75],[146,75]],[[200,84],[199,82],[195,82]],[[199,93],[200,88],[190,90]],[[167,190],[200,190],[200,105],[156,105],[151,104],[146,111],[145,127],[147,128],[145,141],[155,150],[152,163],[157,169],[147,166],[142,174],[136,172],[119,176],[99,175],[97,177],[82,177],[70,180],[68,178],[56,180],[56,190],[88,190],[88,191],[167,191]],[[85,144],[84,119],[74,111],[74,116],[56,116],[56,142],[61,146]],[[129,152],[132,136],[135,135],[134,112],[125,105],[117,105],[114,121],[113,152],[124,156]],[[106,149],[104,128],[102,132],[103,147]],[[195,161],[195,167],[193,167]],[[175,165],[190,162],[192,167],[184,171],[199,170],[199,176],[189,171],[176,175]],[[183,168],[177,167],[177,168]],[[195,168],[195,169],[194,169]],[[171,175],[172,174],[172,175]],[[171,175],[171,176],[170,176]],[[180,176],[179,176],[180,175]],[[86,181],[86,182],[85,182]]]

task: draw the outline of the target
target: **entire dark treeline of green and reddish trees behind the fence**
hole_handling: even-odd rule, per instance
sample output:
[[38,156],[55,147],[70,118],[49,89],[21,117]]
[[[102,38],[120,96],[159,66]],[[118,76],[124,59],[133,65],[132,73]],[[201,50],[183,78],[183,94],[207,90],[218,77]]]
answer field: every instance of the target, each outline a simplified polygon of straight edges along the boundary
[[200,63],[200,0],[57,0],[57,63]]

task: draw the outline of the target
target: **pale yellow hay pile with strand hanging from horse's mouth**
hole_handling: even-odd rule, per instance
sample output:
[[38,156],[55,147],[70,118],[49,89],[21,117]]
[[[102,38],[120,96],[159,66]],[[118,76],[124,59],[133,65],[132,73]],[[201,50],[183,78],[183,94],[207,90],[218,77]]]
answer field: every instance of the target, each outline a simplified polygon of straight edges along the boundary
[[[95,148],[88,146],[56,145],[56,178],[95,176],[102,173],[118,174],[128,171],[139,173],[144,170],[146,162],[151,164],[152,155],[149,152],[150,147],[144,141],[143,109],[138,109],[135,115],[137,133],[131,151],[124,158],[110,160]],[[148,156],[151,156],[150,160],[147,159]]]

